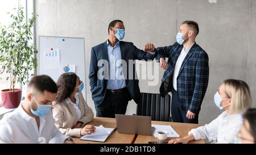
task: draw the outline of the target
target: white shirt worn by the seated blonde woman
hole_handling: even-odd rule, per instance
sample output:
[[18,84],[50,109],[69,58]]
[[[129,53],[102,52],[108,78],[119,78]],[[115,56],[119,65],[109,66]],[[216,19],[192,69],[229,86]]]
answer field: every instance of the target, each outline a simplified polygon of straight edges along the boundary
[[218,118],[202,127],[192,129],[188,135],[192,134],[195,140],[206,139],[217,140],[217,143],[233,143],[242,126],[242,115],[226,115],[222,112]]

